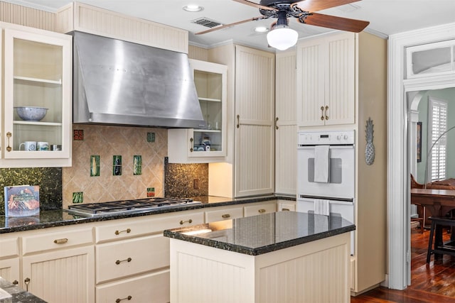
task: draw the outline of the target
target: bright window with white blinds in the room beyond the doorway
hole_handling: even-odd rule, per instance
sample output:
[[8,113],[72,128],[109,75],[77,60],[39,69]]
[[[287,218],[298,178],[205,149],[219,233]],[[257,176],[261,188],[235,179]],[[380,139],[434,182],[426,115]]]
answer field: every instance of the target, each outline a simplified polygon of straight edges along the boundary
[[[429,177],[432,182],[446,179],[446,134],[447,129],[447,102],[429,97],[428,110],[429,139],[432,150],[428,159]],[[430,141],[429,140],[429,141]]]

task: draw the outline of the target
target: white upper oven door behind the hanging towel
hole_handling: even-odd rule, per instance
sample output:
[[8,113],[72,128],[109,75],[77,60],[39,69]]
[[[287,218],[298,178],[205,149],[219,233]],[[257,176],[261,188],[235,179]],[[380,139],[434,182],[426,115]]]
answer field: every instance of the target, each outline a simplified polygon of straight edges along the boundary
[[[354,145],[330,145],[328,182],[315,182],[315,146],[297,150],[297,198],[333,197],[353,199],[355,189]],[[323,169],[323,167],[322,167]]]

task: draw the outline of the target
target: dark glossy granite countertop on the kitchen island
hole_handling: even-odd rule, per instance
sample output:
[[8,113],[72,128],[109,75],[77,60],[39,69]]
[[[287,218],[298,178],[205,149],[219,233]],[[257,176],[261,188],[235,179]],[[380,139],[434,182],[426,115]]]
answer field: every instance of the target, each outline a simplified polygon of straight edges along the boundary
[[323,216],[280,211],[174,228],[164,231],[164,236],[246,255],[261,255],[353,230],[355,225],[339,214]]

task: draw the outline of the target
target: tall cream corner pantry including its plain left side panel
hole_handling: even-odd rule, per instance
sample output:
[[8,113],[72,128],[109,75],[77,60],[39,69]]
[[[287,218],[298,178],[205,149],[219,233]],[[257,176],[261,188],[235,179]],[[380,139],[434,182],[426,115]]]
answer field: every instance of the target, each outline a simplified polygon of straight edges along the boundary
[[227,161],[209,164],[209,194],[274,192],[274,53],[240,45],[208,50],[228,66]]

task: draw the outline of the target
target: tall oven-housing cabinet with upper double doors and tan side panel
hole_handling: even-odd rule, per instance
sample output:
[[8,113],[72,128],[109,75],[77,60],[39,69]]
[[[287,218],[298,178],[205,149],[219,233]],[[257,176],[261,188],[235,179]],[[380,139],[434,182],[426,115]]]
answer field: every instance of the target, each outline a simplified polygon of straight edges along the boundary
[[[337,32],[299,40],[299,130],[355,131],[355,250],[351,293],[385,280],[387,266],[387,40]],[[375,160],[365,162],[365,126],[373,120]]]

